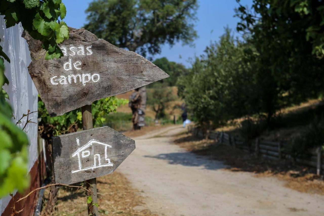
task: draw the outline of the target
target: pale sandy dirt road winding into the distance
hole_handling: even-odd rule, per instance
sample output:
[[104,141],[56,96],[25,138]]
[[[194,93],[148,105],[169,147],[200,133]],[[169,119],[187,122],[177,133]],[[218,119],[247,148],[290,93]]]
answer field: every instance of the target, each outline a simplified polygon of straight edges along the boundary
[[[324,215],[324,196],[284,187],[276,178],[230,172],[222,162],[172,143],[180,126],[136,137],[136,149],[120,165],[146,207],[159,215]],[[141,207],[138,207],[141,209]]]

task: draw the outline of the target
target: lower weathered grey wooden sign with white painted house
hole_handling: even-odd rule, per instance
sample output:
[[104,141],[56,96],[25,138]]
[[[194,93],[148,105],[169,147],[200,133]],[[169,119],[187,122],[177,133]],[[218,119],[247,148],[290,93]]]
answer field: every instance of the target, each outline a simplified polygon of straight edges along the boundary
[[56,183],[74,184],[111,174],[135,149],[135,141],[105,126],[53,137]]

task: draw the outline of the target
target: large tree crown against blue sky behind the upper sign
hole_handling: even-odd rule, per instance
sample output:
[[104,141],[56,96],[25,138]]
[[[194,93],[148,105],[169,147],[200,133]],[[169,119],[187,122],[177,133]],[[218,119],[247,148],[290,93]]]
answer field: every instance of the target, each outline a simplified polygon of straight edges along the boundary
[[143,56],[161,45],[191,44],[197,0],[95,0],[86,10],[85,29],[99,38]]

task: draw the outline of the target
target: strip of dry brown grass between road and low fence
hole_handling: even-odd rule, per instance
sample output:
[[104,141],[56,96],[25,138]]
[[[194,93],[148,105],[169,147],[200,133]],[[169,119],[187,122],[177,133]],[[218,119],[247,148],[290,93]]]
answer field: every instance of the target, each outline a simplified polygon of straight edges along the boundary
[[252,172],[256,177],[275,176],[286,181],[285,186],[305,193],[324,195],[323,177],[313,174],[314,170],[287,161],[256,158],[242,150],[216,144],[214,140],[201,140],[191,134],[182,134],[175,143],[188,151],[224,161],[232,172]]

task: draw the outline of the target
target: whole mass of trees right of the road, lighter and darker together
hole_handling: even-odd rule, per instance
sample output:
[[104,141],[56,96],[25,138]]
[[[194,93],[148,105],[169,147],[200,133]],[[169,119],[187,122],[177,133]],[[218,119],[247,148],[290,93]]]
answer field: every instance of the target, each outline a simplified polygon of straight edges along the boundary
[[254,0],[251,8],[239,5],[236,16],[242,37],[226,29],[177,82],[200,126],[253,116],[272,127],[280,109],[322,97],[321,1]]

